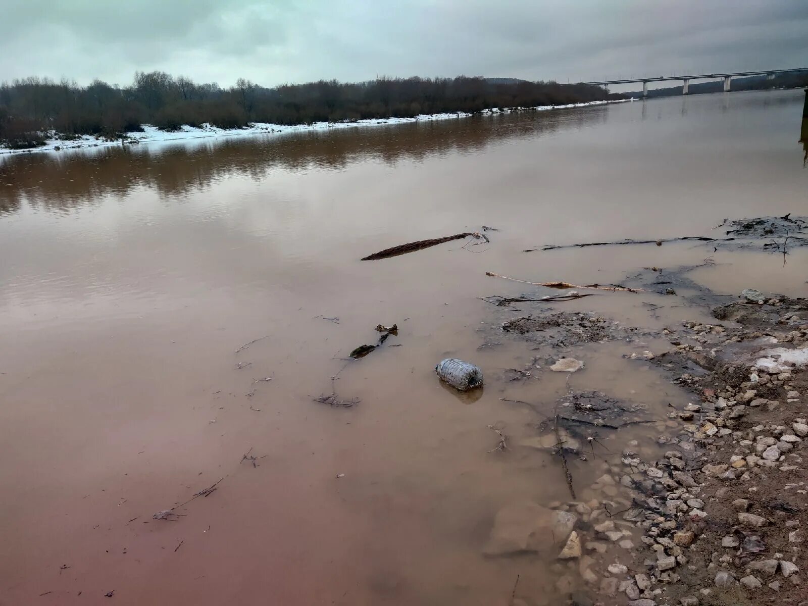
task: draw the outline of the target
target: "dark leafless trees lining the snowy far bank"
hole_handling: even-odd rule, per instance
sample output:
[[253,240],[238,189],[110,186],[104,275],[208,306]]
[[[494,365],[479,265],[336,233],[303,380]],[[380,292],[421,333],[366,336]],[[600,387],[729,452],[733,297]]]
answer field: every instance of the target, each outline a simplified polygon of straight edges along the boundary
[[60,135],[118,137],[142,124],[175,130],[208,123],[237,128],[250,122],[311,124],[364,118],[480,112],[492,107],[533,107],[618,99],[600,86],[557,82],[501,82],[486,78],[379,78],[265,88],[239,79],[228,89],[197,84],[164,72],[138,72],[131,86],[95,80],[89,86],[25,78],[0,85],[0,141],[11,147]]

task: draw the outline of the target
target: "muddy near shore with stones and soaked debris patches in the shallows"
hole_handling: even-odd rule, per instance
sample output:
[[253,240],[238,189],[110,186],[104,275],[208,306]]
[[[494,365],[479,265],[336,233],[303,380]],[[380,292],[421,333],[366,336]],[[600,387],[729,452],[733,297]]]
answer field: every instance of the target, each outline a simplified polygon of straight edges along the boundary
[[[762,238],[805,225],[785,219],[735,221],[758,239],[740,248],[768,249]],[[536,303],[524,315],[522,301],[537,301],[535,292],[507,300],[520,301],[511,303],[520,315],[502,322],[502,332],[539,353],[511,369],[509,381],[559,371],[569,372],[574,385],[572,373],[586,372],[572,357],[581,344],[652,342],[626,357],[691,397],[684,406],[669,402],[665,418],[654,419],[646,406],[570,387],[537,423],[539,435],[513,445],[556,455],[570,500],[503,507],[486,554],[555,553],[555,588],[566,604],[808,604],[808,299],[753,288],[717,295],[688,278],[693,269],[648,267],[619,284],[638,295],[655,289],[712,318],[657,334]],[[680,297],[673,286],[690,292]],[[650,313],[661,306],[649,304]],[[645,441],[635,433],[623,448],[621,429],[638,423],[648,428]],[[615,452],[612,444],[621,448]],[[570,461],[602,474],[581,486]],[[517,583],[508,604],[547,602],[520,595]]]

